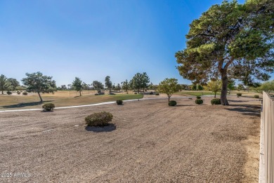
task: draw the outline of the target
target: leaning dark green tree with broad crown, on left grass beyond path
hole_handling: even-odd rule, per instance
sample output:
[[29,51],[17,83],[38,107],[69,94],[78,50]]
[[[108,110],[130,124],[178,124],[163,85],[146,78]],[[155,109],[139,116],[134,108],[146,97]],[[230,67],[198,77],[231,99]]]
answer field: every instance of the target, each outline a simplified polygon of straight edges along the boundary
[[23,85],[27,86],[27,90],[38,93],[41,102],[43,102],[41,93],[56,91],[56,81],[52,80],[52,76],[44,76],[41,72],[27,73],[26,76],[22,79]]

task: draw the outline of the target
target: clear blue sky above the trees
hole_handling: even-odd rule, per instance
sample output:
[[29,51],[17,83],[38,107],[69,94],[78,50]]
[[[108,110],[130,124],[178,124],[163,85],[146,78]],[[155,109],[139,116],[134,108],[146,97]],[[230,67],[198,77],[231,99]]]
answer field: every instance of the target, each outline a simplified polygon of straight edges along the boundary
[[[243,3],[243,1],[240,1]],[[185,48],[188,25],[221,0],[0,1],[0,74],[53,76],[57,86],[130,80],[152,83],[178,74],[174,54]]]

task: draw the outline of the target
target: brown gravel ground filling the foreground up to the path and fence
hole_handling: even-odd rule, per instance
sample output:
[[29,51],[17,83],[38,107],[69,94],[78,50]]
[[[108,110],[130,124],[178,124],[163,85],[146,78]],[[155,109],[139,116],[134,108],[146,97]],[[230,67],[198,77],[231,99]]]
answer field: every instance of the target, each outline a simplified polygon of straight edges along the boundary
[[[242,182],[260,102],[210,99],[3,112],[0,182]],[[112,112],[115,125],[86,128],[95,111]]]

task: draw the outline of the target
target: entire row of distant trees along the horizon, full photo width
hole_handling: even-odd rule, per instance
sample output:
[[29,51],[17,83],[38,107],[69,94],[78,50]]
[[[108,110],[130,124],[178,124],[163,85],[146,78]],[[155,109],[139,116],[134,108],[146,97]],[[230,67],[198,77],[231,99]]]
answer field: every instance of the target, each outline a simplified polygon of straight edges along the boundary
[[[192,85],[185,85],[185,84],[178,84],[177,79],[164,79],[164,81],[160,82],[159,85],[153,85],[150,83],[150,78],[148,74],[145,72],[137,73],[133,76],[133,78],[128,81],[112,84],[112,81],[110,80],[110,76],[105,77],[105,85],[101,83],[100,81],[93,81],[91,84],[86,84],[79,77],[75,77],[74,81],[72,81],[72,84],[69,84],[67,86],[63,85],[61,87],[56,87],[56,81],[52,80],[52,76],[45,76],[41,72],[36,72],[26,74],[26,78],[23,78],[22,84],[24,86],[20,86],[20,83],[16,79],[7,78],[3,74],[0,76],[0,90],[2,94],[4,94],[4,90],[15,90],[18,87],[22,88],[25,87],[27,91],[38,93],[41,102],[43,101],[41,98],[41,93],[54,93],[56,90],[66,90],[66,89],[73,89],[79,91],[79,94],[81,96],[82,90],[89,90],[89,89],[95,89],[98,91],[98,93],[101,92],[101,90],[109,90],[110,93],[112,90],[124,90],[126,93],[128,93],[128,90],[136,90],[138,93],[140,93],[141,90],[145,92],[146,89],[150,90],[158,90],[162,93],[167,93],[168,97],[171,97],[171,95],[178,91],[178,90],[209,90],[211,92],[216,93],[221,90],[222,88],[222,81],[215,79],[211,80],[207,83],[205,83],[203,86],[200,84],[193,83]],[[239,83],[238,86],[235,86],[235,81],[233,79],[229,79],[228,81],[228,93],[230,93],[230,90],[242,90],[244,89],[244,86],[242,83]],[[247,89],[249,90],[249,87],[247,86]],[[252,90],[256,90],[259,93],[262,93],[262,91],[267,91],[270,93],[270,91],[274,90],[274,80],[273,81],[267,81],[265,83],[257,83],[256,87],[251,88]]]

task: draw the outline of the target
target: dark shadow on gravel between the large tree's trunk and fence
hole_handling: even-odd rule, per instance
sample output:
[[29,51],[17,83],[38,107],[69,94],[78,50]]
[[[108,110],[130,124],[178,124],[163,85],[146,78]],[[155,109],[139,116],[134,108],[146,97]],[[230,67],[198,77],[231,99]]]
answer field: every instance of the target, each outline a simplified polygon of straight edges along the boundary
[[260,116],[261,115],[261,106],[247,105],[247,104],[242,104],[242,105],[230,104],[230,106],[232,106],[234,108],[227,109],[228,111],[237,111],[237,112],[242,113],[242,115],[247,115],[247,116]]

